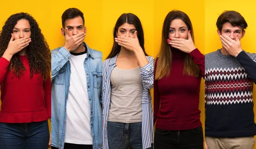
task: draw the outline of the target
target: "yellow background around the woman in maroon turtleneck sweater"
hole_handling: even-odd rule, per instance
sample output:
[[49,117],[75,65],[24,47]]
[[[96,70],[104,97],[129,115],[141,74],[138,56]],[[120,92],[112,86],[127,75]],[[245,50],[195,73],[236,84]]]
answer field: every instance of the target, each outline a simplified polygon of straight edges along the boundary
[[[185,12],[191,22],[194,29],[195,46],[204,54],[204,0],[197,0],[197,9],[195,11],[195,2],[192,0],[179,0],[169,2],[166,1],[154,1],[154,57],[157,56],[160,50],[161,34],[163,21],[169,11],[173,9]],[[200,103],[199,109],[201,110],[201,122],[204,128],[204,79],[201,81]]]

